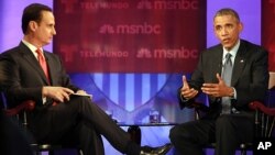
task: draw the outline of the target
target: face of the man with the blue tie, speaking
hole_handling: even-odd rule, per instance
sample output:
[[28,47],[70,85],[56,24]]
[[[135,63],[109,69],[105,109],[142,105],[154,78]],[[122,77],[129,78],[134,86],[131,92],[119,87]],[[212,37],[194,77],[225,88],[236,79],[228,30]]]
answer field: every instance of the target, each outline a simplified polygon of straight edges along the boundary
[[232,15],[218,15],[213,21],[215,34],[228,51],[237,44],[242,27],[242,23]]

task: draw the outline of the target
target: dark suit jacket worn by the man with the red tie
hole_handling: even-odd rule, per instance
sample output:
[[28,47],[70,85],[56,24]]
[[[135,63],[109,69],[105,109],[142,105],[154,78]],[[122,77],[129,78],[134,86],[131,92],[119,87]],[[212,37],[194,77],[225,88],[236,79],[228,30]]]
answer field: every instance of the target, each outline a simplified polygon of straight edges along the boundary
[[[44,51],[45,59],[48,65],[51,84],[47,82],[37,59],[33,53],[21,42],[19,46],[1,54],[1,63],[9,66],[10,86],[7,89],[9,107],[18,106],[24,100],[34,100],[36,107],[42,106],[42,87],[43,86],[63,86],[78,90],[70,84],[59,57],[53,53]],[[47,102],[53,102],[47,99]]]

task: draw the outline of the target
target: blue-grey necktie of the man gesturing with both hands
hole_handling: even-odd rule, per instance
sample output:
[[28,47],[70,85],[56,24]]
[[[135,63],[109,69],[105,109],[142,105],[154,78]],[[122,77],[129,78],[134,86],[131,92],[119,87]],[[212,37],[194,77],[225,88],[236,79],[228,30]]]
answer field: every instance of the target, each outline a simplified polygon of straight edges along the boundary
[[[223,65],[223,71],[222,71],[222,79],[224,80],[227,86],[231,86],[231,77],[232,77],[232,62],[231,62],[231,54],[228,53],[226,55],[226,62]],[[221,106],[222,110],[221,113],[231,113],[231,100],[229,97],[222,97],[221,98]]]

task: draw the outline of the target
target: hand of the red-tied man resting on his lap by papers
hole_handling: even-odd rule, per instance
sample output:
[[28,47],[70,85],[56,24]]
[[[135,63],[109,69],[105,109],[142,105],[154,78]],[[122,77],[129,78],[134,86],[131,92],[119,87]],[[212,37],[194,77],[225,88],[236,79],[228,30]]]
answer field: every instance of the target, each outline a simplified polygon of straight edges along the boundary
[[46,86],[42,89],[42,96],[52,98],[57,102],[64,102],[69,100],[69,95],[74,93],[73,90],[64,87],[51,87]]

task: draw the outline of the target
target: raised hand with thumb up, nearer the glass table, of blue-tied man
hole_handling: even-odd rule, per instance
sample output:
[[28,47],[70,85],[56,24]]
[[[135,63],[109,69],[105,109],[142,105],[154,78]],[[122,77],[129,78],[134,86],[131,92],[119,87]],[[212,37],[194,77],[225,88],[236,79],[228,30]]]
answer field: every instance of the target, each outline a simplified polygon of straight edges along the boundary
[[186,77],[183,76],[183,87],[180,89],[180,96],[185,98],[186,100],[189,100],[198,95],[198,90],[190,88]]

